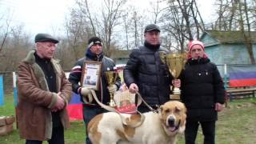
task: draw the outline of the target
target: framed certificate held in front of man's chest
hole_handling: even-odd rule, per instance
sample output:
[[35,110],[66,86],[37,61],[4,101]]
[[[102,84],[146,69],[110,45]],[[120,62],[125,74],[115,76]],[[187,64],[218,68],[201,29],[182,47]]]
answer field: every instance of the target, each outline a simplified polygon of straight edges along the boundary
[[82,87],[89,87],[94,90],[99,89],[102,74],[102,62],[85,61],[82,66]]

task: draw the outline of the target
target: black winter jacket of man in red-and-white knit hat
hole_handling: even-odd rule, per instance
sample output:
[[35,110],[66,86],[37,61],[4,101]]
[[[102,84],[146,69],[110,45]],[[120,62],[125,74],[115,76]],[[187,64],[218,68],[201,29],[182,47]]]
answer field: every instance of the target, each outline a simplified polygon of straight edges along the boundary
[[224,103],[224,86],[217,66],[208,58],[190,58],[180,78],[181,99],[187,108],[187,119],[217,120],[215,103]]

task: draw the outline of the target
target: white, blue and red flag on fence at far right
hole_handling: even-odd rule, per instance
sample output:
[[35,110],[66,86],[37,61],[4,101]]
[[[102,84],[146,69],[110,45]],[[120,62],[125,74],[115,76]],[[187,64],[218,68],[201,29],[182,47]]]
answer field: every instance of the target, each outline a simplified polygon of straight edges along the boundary
[[256,86],[256,65],[230,66],[230,87]]

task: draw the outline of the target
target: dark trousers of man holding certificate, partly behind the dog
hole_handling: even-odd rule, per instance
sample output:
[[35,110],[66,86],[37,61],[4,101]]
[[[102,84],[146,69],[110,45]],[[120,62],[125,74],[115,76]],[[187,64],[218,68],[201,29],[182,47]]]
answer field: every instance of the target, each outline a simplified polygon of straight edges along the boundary
[[92,106],[82,106],[83,121],[86,124],[86,144],[91,144],[90,139],[88,138],[87,126],[92,118],[98,114],[107,112],[107,110],[102,109],[101,107],[92,107]]

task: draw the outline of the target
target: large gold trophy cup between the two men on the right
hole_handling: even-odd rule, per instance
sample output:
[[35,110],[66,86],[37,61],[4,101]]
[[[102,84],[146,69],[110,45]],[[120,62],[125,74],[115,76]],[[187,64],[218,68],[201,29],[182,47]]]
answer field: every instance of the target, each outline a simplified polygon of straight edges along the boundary
[[[181,74],[182,69],[186,63],[186,54],[164,54],[164,52],[159,53],[162,62],[164,62],[170,71],[170,74],[177,79]],[[180,99],[181,90],[174,86],[174,95],[170,99]]]

